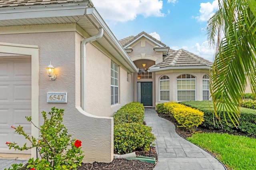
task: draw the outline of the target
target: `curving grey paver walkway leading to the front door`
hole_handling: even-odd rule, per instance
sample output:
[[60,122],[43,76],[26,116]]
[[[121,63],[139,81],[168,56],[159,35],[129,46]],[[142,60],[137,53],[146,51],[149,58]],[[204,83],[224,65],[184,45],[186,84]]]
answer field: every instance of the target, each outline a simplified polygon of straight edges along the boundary
[[211,154],[180,137],[175,126],[158,117],[154,108],[145,108],[144,121],[156,136],[158,161],[154,170],[226,170]]

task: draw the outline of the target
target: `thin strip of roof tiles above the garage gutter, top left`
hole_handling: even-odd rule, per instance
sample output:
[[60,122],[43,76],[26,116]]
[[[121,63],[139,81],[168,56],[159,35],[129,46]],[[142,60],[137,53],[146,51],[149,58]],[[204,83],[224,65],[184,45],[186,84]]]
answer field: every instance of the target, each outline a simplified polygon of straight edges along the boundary
[[[65,4],[74,2],[88,2],[88,0],[0,0],[0,8],[14,6],[32,6],[46,4]],[[92,3],[90,3],[93,6]]]

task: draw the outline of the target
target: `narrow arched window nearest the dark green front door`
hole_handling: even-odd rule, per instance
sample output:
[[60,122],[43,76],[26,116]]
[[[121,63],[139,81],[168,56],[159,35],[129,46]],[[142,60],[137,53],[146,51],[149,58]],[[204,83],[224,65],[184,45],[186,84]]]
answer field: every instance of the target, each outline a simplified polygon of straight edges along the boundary
[[167,75],[160,77],[160,100],[170,100],[170,81]]

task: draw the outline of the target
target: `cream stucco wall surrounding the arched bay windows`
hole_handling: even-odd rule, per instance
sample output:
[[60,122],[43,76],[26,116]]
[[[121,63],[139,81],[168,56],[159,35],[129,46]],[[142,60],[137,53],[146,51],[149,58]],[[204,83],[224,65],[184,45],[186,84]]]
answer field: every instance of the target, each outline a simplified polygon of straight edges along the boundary
[[209,70],[203,69],[187,69],[187,70],[169,70],[156,72],[156,104],[164,103],[166,101],[160,101],[160,85],[159,79],[162,75],[167,75],[170,78],[170,101],[177,101],[177,79],[176,77],[181,74],[191,74],[196,77],[196,100],[202,101],[202,83],[203,76],[209,75]]

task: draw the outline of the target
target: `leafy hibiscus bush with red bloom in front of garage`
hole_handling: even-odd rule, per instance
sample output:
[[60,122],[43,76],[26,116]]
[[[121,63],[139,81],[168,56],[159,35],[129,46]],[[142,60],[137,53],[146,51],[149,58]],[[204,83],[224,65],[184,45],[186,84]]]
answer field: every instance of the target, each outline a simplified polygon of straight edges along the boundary
[[[31,146],[27,147],[26,144],[20,147],[15,142],[6,142],[9,148],[18,150],[28,150],[36,147],[38,150],[39,158],[31,158],[28,160],[28,165],[22,167],[22,164],[12,165],[13,169],[8,170],[21,170],[24,168],[30,170],[76,170],[78,166],[81,166],[82,155],[80,140],[72,139],[68,134],[68,130],[62,124],[62,116],[64,110],[56,109],[53,107],[51,111],[46,115],[46,112],[42,112],[44,118],[44,124],[38,128],[40,130],[39,139],[29,136],[24,132],[23,127],[13,127],[15,132],[25,136],[31,142]],[[28,122],[33,125],[31,117],[26,117]]]

